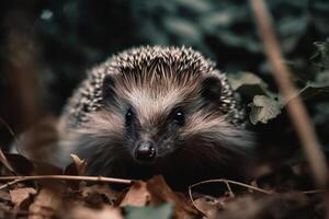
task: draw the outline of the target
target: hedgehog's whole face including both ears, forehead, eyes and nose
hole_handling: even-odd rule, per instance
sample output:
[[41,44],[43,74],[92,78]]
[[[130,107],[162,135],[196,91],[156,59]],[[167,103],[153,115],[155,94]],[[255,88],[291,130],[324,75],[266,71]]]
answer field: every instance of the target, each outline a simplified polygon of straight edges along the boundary
[[191,147],[186,145],[197,145],[191,139],[202,139],[203,131],[218,126],[214,122],[223,116],[219,78],[196,74],[182,80],[158,78],[137,84],[132,78],[104,79],[105,106],[121,116],[123,147],[135,161],[157,162]]

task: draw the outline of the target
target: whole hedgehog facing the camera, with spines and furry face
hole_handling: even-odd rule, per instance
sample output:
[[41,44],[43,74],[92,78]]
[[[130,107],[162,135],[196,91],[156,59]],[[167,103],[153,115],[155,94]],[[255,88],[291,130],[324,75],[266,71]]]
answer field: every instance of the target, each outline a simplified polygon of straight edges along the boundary
[[90,175],[178,185],[241,174],[253,146],[226,74],[186,47],[141,46],[94,67],[57,128],[63,165],[75,153]]

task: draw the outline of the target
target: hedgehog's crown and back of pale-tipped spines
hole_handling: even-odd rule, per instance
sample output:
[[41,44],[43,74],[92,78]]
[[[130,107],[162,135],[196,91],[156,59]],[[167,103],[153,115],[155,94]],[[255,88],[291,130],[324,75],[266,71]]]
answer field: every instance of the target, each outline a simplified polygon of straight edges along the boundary
[[125,50],[89,71],[65,107],[61,122],[71,128],[80,126],[90,113],[104,106],[103,81],[107,74],[116,78],[122,92],[147,89],[154,97],[174,89],[195,89],[202,76],[216,74],[222,82],[220,111],[232,125],[245,120],[226,76],[215,69],[214,62],[192,48],[146,46]]

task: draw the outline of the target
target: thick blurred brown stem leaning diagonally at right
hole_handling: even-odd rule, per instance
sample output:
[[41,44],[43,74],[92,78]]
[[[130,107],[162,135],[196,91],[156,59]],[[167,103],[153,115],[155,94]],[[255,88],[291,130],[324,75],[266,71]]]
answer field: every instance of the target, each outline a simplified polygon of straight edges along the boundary
[[264,51],[273,69],[273,77],[284,100],[290,100],[287,101],[287,113],[297,131],[315,181],[319,186],[325,186],[327,183],[326,159],[305,106],[300,97],[295,95],[297,91],[290,80],[290,70],[283,62],[281,47],[272,27],[271,15],[263,0],[250,0],[250,2]]

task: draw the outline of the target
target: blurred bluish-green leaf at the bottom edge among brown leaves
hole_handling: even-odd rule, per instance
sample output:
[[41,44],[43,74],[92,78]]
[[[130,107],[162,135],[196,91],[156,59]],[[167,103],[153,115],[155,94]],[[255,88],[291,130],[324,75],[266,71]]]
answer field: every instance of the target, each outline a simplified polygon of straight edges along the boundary
[[173,206],[171,204],[163,204],[158,207],[124,207],[126,211],[126,219],[169,219],[173,214]]

